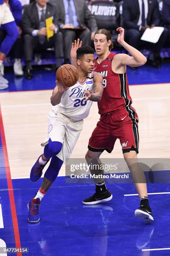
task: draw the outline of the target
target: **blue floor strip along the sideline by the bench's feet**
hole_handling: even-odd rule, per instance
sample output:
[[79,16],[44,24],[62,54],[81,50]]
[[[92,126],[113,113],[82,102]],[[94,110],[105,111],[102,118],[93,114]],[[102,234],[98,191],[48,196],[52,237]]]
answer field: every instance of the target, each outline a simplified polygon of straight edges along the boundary
[[[163,64],[161,69],[148,65],[137,70],[127,67],[128,81],[130,85],[169,83],[169,69],[169,63]],[[24,77],[15,77],[13,70],[7,70],[5,78],[9,81],[10,86],[1,92],[52,90],[55,87],[55,70],[35,70],[33,75],[33,79],[27,80]]]

